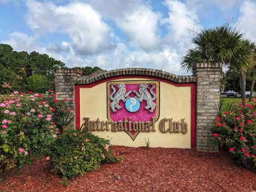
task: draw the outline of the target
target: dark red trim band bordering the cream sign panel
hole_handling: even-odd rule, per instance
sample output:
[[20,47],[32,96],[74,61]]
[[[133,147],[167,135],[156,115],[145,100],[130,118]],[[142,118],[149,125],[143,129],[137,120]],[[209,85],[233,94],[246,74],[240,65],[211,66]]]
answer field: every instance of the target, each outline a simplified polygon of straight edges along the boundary
[[150,76],[142,76],[142,75],[122,75],[116,77],[109,77],[106,79],[102,79],[100,81],[91,83],[91,84],[83,84],[83,85],[75,85],[75,103],[76,103],[76,129],[80,129],[80,88],[91,88],[95,85],[105,83],[108,81],[113,81],[121,78],[146,78],[153,79],[157,81],[161,81],[164,83],[169,83],[171,85],[180,87],[180,86],[190,86],[191,87],[191,148],[196,147],[196,83],[175,83],[169,81],[167,79],[162,79],[158,77],[150,77]]

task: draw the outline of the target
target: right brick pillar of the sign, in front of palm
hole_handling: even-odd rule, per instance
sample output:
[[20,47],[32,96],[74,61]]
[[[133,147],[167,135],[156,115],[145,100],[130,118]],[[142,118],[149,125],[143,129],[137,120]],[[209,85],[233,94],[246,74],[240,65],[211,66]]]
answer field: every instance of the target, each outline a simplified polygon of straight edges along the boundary
[[218,115],[222,63],[196,63],[193,73],[197,76],[196,148],[199,151],[218,151],[218,146],[209,146],[207,142]]

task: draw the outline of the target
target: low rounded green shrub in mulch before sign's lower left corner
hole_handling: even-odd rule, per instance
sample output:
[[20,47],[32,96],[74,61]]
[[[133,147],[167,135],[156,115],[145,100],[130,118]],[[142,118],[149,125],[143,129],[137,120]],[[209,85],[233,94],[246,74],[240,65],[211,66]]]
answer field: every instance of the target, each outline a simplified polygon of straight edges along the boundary
[[63,179],[74,179],[100,167],[101,163],[119,162],[109,151],[109,141],[86,131],[65,130],[48,151],[52,171]]

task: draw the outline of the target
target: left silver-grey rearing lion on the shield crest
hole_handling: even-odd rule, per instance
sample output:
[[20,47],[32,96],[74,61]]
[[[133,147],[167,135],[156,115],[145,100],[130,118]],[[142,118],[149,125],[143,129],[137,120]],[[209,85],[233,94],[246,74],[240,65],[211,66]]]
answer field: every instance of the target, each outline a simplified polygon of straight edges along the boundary
[[116,109],[121,109],[122,107],[119,106],[119,101],[122,100],[123,102],[125,102],[127,99],[129,99],[129,94],[132,92],[132,91],[129,91],[126,93],[126,87],[125,87],[125,84],[123,83],[120,83],[117,85],[117,88],[118,88],[118,91],[116,92],[116,89],[115,89],[115,84],[111,84],[111,89],[113,90],[113,92],[110,94],[110,100],[112,101],[110,103],[110,107],[111,107],[111,110],[116,113]]

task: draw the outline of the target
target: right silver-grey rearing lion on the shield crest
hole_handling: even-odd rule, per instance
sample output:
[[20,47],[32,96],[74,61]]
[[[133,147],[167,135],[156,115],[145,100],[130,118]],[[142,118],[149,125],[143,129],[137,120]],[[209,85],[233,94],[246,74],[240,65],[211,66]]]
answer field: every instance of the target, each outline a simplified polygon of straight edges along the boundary
[[142,82],[139,86],[139,92],[137,91],[133,91],[133,93],[135,93],[137,95],[137,97],[135,96],[136,99],[138,99],[140,102],[142,102],[143,100],[145,100],[147,102],[147,106],[145,107],[146,110],[149,110],[149,113],[153,113],[153,111],[156,108],[156,104],[153,102],[156,99],[156,94],[153,92],[153,90],[156,87],[155,83],[151,83],[151,88],[150,88],[150,93],[153,95],[153,97],[151,97],[151,94],[148,92],[148,85],[145,82]]

